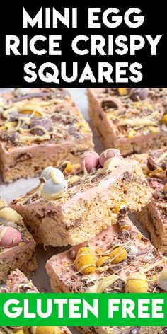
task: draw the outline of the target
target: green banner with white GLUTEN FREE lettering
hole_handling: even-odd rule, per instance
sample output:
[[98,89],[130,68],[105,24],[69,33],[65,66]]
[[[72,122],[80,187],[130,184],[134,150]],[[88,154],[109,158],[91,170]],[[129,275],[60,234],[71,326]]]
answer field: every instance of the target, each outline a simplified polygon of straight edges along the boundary
[[167,294],[0,294],[0,326],[167,326]]

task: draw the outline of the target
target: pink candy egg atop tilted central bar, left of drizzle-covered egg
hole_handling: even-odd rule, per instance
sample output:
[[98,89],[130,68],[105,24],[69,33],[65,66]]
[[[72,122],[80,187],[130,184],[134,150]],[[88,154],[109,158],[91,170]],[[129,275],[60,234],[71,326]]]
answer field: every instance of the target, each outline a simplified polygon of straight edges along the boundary
[[99,155],[94,151],[86,151],[84,154],[81,154],[79,162],[82,170],[86,169],[89,173],[93,168],[98,167]]

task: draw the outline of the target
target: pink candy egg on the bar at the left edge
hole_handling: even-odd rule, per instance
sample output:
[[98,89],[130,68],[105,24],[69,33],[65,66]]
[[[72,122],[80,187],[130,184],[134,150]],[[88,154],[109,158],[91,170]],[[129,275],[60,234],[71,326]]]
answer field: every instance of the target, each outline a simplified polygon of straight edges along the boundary
[[5,248],[11,248],[18,246],[18,243],[21,243],[21,233],[13,229],[13,227],[0,227],[0,246]]

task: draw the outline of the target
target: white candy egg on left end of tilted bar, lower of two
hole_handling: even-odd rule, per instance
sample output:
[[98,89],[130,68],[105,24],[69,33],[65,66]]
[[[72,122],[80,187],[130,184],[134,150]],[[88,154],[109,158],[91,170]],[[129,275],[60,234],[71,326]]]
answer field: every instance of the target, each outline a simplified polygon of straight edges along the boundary
[[63,196],[64,191],[67,190],[67,181],[59,178],[59,183],[54,183],[52,179],[44,183],[41,191],[42,197],[45,200],[56,200]]

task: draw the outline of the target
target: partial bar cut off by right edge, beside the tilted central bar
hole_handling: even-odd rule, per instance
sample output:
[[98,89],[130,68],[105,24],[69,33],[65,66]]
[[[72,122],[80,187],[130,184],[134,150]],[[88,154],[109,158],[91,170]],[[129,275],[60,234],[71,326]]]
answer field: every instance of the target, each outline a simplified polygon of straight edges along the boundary
[[167,149],[136,154],[149,181],[153,197],[137,218],[149,231],[151,241],[162,253],[167,253]]

